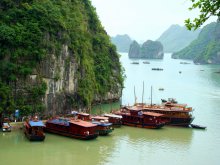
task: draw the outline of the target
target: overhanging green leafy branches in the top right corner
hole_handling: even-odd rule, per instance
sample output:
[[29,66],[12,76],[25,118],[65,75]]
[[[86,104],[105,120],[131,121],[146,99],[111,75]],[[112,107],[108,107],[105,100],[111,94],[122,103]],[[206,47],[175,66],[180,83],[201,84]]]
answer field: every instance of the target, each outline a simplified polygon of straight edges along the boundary
[[200,15],[194,20],[185,20],[186,27],[191,30],[199,28],[211,16],[220,18],[220,0],[191,0],[192,7],[189,10],[199,9]]

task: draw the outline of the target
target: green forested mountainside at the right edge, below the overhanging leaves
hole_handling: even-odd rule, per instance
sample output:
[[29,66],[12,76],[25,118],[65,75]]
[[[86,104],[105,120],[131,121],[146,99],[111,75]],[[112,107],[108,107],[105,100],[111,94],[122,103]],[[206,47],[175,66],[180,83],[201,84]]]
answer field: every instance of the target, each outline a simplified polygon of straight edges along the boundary
[[206,25],[198,38],[172,58],[192,59],[194,63],[220,64],[220,22]]

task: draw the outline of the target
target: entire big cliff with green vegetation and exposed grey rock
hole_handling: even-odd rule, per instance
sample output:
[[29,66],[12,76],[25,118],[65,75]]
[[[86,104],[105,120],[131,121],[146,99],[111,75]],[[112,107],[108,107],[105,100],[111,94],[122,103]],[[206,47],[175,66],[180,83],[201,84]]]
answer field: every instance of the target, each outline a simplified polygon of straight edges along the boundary
[[90,0],[1,0],[0,67],[0,112],[90,107],[118,100],[123,85]]

